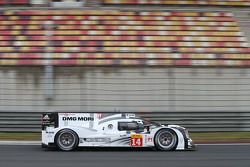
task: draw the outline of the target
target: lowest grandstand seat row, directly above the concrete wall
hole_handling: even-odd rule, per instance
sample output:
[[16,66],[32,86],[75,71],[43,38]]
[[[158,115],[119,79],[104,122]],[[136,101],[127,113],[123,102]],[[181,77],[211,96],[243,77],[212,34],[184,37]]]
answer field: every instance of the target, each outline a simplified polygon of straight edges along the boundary
[[228,66],[228,67],[243,67],[250,66],[250,60],[150,60],[150,59],[54,59],[54,60],[1,60],[0,65],[8,66]]

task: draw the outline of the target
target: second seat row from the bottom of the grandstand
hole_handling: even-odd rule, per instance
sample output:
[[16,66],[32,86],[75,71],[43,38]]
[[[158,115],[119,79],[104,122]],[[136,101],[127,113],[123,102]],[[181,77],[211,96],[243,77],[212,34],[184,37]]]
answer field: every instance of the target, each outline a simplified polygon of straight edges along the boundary
[[[232,53],[50,53],[51,59],[197,59],[248,60],[248,54]],[[2,53],[0,58],[44,59],[44,53]]]

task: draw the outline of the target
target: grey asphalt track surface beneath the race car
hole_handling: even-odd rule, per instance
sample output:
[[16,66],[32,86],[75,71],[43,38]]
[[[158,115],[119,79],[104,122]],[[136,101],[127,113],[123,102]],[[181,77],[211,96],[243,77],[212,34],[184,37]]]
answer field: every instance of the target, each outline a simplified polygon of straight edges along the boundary
[[78,149],[0,145],[0,167],[249,167],[250,145],[199,145],[197,151]]

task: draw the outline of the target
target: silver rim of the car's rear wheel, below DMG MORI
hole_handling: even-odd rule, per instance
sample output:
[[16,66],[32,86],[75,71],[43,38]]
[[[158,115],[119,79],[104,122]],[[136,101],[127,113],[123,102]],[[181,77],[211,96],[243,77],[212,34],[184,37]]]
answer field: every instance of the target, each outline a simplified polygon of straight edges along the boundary
[[75,144],[75,136],[70,132],[62,133],[58,137],[58,144],[64,150],[71,149]]

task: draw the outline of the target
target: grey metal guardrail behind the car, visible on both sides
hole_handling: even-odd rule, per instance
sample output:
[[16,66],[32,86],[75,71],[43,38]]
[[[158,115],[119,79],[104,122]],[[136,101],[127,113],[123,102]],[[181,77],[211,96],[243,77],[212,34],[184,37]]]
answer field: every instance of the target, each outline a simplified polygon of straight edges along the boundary
[[[138,115],[189,131],[250,131],[250,112],[145,112]],[[0,112],[1,132],[39,132],[41,112]]]

